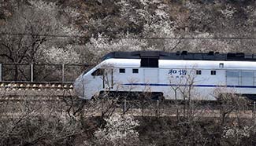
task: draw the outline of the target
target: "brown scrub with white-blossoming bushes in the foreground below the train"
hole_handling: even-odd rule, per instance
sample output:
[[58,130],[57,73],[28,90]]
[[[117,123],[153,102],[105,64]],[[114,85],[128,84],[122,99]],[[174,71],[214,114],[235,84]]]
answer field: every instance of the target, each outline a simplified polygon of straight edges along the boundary
[[[1,100],[0,145],[253,145],[256,141],[253,112],[243,108],[248,103],[230,95],[214,105],[140,99],[126,100],[126,108],[125,100],[106,97],[47,101],[24,95],[23,99]],[[185,113],[182,107],[188,107]],[[132,143],[123,132],[132,134]]]

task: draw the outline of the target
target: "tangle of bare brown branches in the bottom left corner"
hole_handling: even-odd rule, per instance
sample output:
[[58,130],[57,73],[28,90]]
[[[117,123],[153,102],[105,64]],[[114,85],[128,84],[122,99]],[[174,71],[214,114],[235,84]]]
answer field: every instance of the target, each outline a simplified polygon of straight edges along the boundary
[[22,100],[5,100],[7,96],[2,94],[0,100],[4,105],[0,108],[1,145],[65,145],[74,143],[72,137],[83,132],[79,116],[67,115],[68,107],[61,100],[48,99],[54,94],[44,97],[48,101],[35,99],[27,92],[20,97]]

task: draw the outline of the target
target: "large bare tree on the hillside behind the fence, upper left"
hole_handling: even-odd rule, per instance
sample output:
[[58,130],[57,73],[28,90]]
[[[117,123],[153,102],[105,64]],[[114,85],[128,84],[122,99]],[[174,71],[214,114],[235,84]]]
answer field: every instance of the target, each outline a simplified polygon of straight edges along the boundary
[[[61,9],[54,2],[40,0],[16,5],[13,15],[9,16],[0,28],[2,62],[9,64],[45,62],[47,50],[52,49],[52,46],[66,46],[73,39],[58,37],[59,35],[79,34],[72,24],[68,24],[68,19],[69,16],[61,14]],[[19,70],[20,68],[15,66],[15,80],[18,78]]]

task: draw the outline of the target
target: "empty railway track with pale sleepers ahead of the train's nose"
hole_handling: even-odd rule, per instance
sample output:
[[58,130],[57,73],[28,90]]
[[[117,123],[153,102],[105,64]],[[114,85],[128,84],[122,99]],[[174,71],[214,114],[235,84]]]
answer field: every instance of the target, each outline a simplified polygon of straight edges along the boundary
[[0,82],[0,101],[60,100],[74,96],[71,82]]

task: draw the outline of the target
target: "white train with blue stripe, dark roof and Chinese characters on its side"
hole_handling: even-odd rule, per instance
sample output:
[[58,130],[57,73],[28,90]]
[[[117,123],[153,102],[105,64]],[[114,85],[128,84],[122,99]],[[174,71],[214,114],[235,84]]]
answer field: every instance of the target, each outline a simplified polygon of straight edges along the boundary
[[165,100],[217,100],[220,94],[256,98],[256,54],[112,52],[73,84],[78,97],[103,93]]

